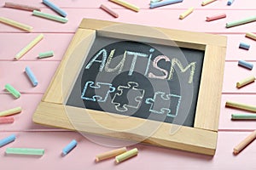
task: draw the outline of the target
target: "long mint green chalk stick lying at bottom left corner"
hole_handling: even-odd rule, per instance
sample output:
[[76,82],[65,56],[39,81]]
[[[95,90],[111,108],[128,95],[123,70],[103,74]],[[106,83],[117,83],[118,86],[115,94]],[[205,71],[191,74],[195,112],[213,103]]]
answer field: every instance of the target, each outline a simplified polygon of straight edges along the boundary
[[6,148],[6,154],[16,154],[16,155],[31,155],[31,156],[43,156],[44,149],[34,149],[34,148]]

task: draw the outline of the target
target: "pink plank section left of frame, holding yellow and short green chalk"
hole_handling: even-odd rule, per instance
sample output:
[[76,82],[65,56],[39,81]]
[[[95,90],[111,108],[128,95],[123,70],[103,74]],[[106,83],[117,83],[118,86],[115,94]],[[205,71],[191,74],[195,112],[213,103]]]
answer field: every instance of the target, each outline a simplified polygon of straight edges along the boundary
[[[38,33],[0,33],[0,44],[3,50],[1,51],[0,60],[14,60],[15,54],[19,53],[29,42],[38,36]],[[44,62],[45,60],[58,60],[62,59],[69,42],[73,37],[73,33],[44,33],[44,39],[32,48],[26,55],[19,60],[35,60]],[[38,54],[49,50],[53,50],[55,55],[47,59],[38,60]]]

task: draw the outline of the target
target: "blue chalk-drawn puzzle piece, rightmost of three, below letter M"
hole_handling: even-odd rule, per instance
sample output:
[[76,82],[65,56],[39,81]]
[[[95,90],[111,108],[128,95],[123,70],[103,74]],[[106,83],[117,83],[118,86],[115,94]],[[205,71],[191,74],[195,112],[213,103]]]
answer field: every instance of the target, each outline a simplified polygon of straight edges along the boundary
[[[181,96],[176,94],[166,94],[164,92],[156,92],[154,98],[146,99],[146,104],[150,105],[149,111],[156,114],[164,114],[166,116],[176,117],[180,105]],[[172,105],[171,105],[172,103]],[[174,105],[172,111],[171,107]]]

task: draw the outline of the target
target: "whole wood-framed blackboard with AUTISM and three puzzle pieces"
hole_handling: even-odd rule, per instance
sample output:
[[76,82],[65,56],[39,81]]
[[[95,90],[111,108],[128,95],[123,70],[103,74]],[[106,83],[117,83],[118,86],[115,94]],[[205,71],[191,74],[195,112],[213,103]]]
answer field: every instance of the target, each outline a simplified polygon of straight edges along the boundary
[[32,120],[213,156],[226,44],[224,36],[84,19]]

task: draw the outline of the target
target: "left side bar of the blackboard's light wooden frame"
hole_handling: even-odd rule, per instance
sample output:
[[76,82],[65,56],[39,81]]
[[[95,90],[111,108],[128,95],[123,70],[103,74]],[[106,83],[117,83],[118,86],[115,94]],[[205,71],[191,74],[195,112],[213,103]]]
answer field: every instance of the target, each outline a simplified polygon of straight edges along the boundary
[[[69,48],[67,48],[67,52],[64,55],[65,57],[62,60],[61,65],[59,65],[58,70],[55,72],[53,81],[50,82],[49,88],[42,99],[43,101],[58,104],[63,103],[63,99],[66,99],[67,94],[69,94],[70,87],[73,86],[74,81],[72,80],[77,76],[79,68],[84,63],[84,55],[86,56],[89,53],[89,49],[92,42],[94,42],[95,37],[95,31],[84,29],[79,29],[77,31]],[[72,55],[75,55],[76,57],[73,58],[73,60],[70,60]],[[68,62],[72,62],[73,64],[67,65]],[[64,75],[68,78],[68,81],[63,78]],[[65,86],[63,84],[65,84]],[[49,93],[49,90],[51,90],[51,93]]]

